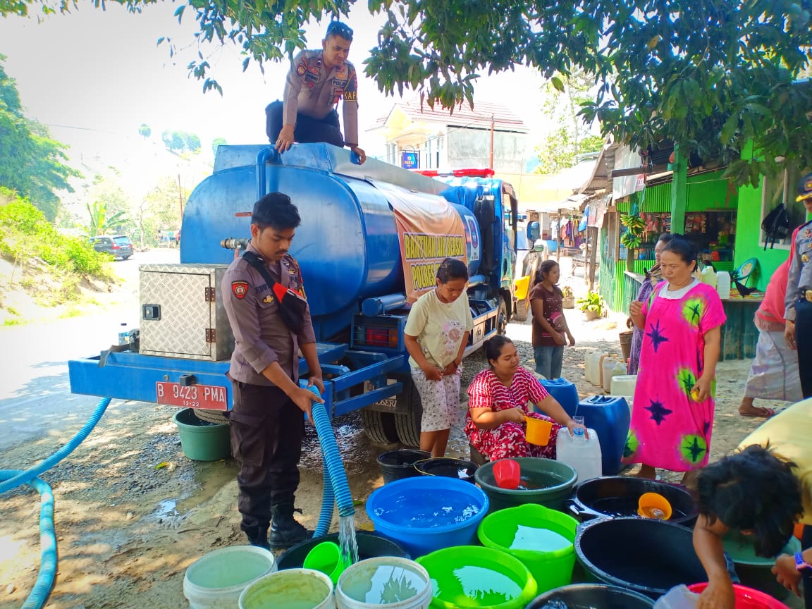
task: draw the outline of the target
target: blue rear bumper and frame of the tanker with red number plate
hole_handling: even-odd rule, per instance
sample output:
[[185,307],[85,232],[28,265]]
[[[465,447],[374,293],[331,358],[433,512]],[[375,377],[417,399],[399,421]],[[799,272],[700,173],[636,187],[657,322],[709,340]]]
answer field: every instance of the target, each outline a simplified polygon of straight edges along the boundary
[[[387,374],[401,369],[405,356],[351,350],[346,344],[317,343],[325,377],[325,407],[339,417],[403,391],[403,383],[387,384]],[[352,369],[344,363],[352,366]],[[179,408],[230,411],[228,361],[145,356],[138,352],[102,352],[68,361],[71,392],[119,400],[166,404]],[[304,359],[300,376],[307,374]],[[364,391],[365,389],[369,391]]]

